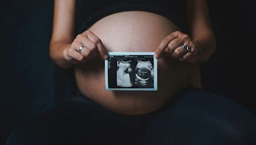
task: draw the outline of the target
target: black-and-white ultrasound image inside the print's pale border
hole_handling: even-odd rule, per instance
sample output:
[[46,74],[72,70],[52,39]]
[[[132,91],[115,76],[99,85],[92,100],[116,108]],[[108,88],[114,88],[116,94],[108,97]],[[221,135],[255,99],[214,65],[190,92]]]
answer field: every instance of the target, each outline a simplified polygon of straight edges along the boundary
[[154,88],[152,55],[110,55],[109,88]]

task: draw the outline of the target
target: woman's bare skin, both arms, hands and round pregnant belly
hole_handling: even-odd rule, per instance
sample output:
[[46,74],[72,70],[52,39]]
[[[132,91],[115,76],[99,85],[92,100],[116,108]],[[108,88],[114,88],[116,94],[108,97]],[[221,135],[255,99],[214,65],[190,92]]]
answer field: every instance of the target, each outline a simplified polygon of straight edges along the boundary
[[[193,66],[209,59],[215,49],[214,35],[203,0],[188,2],[190,35],[180,32],[170,20],[160,15],[125,11],[104,17],[87,31],[74,36],[74,5],[75,1],[55,1],[51,58],[63,68],[76,65],[79,90],[115,113],[143,114],[163,106],[175,93],[186,88],[189,78],[198,81],[198,77],[190,76],[192,69],[196,68]],[[191,52],[184,53],[180,47],[182,44],[188,45]],[[81,46],[83,49],[79,52]],[[106,91],[102,62],[108,57],[107,50],[155,51],[159,66],[159,90]]]

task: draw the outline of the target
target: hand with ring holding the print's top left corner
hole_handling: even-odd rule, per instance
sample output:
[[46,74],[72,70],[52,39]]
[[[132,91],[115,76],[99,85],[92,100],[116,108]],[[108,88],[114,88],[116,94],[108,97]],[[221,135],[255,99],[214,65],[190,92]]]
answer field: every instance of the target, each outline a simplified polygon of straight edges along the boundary
[[[81,48],[79,51],[79,48]],[[79,64],[100,56],[108,59],[108,52],[100,39],[91,31],[84,31],[76,36],[69,48],[63,51],[63,57],[71,64]]]

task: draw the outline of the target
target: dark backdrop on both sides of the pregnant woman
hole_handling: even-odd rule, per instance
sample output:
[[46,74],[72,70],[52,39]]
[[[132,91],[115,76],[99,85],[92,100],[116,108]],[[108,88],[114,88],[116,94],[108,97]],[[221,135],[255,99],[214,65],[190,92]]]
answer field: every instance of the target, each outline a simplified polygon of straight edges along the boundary
[[[253,6],[250,0],[209,1],[217,50],[201,69],[205,89],[256,113]],[[48,55],[52,8],[52,0],[1,1],[0,144],[13,127],[72,93],[72,73]]]

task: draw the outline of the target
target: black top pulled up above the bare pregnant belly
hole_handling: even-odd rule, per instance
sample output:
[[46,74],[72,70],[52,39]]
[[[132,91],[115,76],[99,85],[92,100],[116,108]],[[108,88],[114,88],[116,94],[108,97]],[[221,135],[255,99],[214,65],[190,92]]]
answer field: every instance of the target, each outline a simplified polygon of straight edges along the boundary
[[77,34],[86,31],[100,18],[120,11],[149,11],[172,20],[182,32],[188,32],[186,0],[77,0]]

